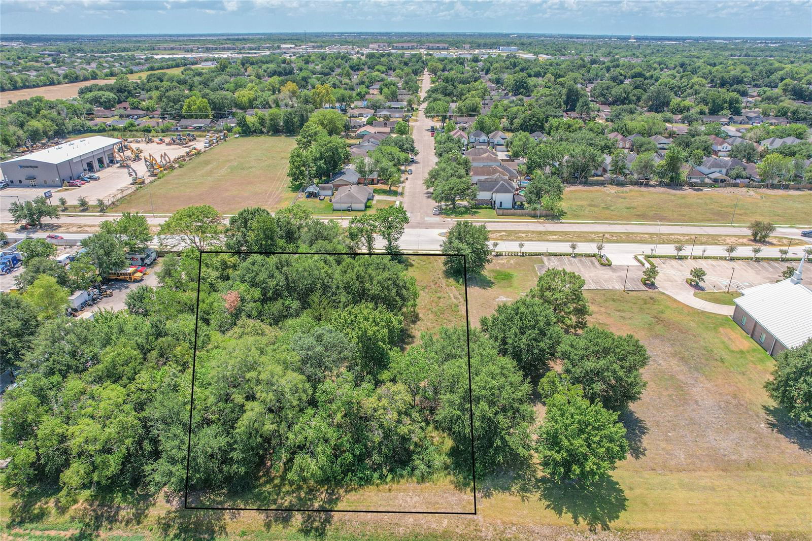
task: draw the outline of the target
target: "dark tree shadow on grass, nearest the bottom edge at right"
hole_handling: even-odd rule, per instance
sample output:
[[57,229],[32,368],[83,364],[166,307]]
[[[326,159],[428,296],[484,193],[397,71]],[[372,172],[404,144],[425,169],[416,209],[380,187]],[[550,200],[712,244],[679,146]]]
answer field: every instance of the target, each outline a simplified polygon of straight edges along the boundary
[[568,514],[576,525],[584,522],[590,531],[610,530],[611,522],[626,510],[626,497],[620,484],[611,477],[595,483],[556,483],[548,478],[539,481],[539,494],[545,508],[559,517]]

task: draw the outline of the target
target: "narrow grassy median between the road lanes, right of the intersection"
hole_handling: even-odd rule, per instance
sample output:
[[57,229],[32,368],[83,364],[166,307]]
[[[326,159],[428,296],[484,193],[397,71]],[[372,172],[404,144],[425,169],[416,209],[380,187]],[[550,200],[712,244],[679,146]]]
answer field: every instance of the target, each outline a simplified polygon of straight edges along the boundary
[[[490,240],[549,240],[551,242],[586,242],[597,243],[603,237],[604,243],[628,242],[628,243],[651,243],[659,241],[661,245],[685,245],[688,249],[696,238],[696,243],[700,245],[720,245],[720,246],[765,246],[765,243],[754,242],[745,235],[680,235],[677,233],[601,233],[601,232],[566,232],[566,231],[492,231],[488,238]],[[806,246],[806,240],[790,239],[784,236],[772,236],[767,242],[767,246]]]

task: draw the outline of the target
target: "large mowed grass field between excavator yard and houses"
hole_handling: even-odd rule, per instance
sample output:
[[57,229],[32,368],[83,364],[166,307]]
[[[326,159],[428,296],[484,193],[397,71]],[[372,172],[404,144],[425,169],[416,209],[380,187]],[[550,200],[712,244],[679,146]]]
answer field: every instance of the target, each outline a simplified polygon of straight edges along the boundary
[[124,197],[114,211],[171,213],[190,205],[211,205],[223,214],[247,206],[279,209],[296,197],[287,180],[287,157],[295,145],[291,137],[231,137]]

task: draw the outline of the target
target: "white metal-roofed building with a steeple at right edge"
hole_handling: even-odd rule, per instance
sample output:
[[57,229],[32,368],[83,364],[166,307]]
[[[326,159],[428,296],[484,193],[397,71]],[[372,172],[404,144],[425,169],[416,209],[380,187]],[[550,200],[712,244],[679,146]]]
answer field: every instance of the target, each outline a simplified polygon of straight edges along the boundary
[[812,290],[803,279],[806,255],[788,279],[742,290],[733,321],[771,355],[812,339]]

